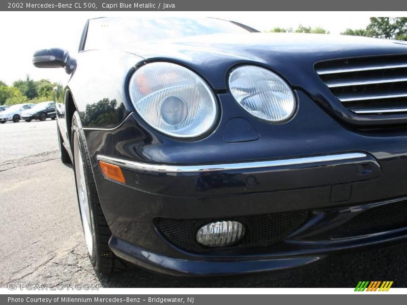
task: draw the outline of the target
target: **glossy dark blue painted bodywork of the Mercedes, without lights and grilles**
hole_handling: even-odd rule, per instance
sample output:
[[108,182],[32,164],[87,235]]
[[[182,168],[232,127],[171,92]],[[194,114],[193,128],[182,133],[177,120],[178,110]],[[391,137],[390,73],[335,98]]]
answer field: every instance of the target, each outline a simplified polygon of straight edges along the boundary
[[[404,241],[407,223],[364,237],[334,238],[338,226],[359,212],[394,198],[405,200],[407,116],[348,111],[314,65],[338,58],[407,54],[406,45],[360,37],[248,33],[83,50],[87,30],[88,26],[79,53],[70,54],[64,64],[68,74],[57,89],[57,121],[69,148],[70,118],[73,111],[80,115],[99,199],[113,234],[110,246],[117,255],[163,272],[213,275],[294,267],[339,250]],[[134,111],[129,79],[141,65],[157,61],[191,69],[214,91],[220,111],[207,134],[171,138]],[[227,77],[240,65],[265,67],[293,88],[298,109],[292,119],[271,125],[239,107],[229,93]],[[211,173],[123,169],[126,184],[106,179],[96,159],[105,155],[149,164],[197,165],[355,151],[365,153],[366,159]],[[248,185],[248,176],[256,184]],[[277,245],[252,252],[189,253],[169,243],[154,225],[156,218],[221,219],[298,210],[308,211],[306,224]]]

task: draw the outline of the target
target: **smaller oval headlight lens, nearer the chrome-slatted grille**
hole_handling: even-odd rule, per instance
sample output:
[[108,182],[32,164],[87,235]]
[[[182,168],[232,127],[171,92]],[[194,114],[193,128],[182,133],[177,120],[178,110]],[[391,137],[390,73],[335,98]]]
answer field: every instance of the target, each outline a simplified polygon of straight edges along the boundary
[[296,99],[287,83],[275,73],[256,66],[242,66],[230,73],[229,88],[240,106],[269,123],[293,116]]

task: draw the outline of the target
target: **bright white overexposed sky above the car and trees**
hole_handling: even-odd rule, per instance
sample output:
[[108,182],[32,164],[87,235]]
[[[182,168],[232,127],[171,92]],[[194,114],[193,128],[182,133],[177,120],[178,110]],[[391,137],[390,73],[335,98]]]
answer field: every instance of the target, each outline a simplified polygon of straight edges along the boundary
[[[265,31],[298,25],[323,27],[331,35],[346,28],[364,28],[369,17],[405,16],[406,12],[188,12],[188,17],[234,20]],[[59,81],[62,69],[38,69],[31,63],[35,50],[59,47],[77,51],[82,28],[88,18],[102,16],[180,17],[185,12],[0,12],[0,80],[11,85],[29,74]],[[74,54],[73,54],[74,55]]]

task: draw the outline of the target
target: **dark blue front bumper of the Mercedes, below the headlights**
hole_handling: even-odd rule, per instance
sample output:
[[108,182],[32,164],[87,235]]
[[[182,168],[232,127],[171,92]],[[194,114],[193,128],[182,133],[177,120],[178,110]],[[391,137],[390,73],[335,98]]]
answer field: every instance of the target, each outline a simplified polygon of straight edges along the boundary
[[[221,275],[301,266],[337,251],[404,241],[407,133],[355,132],[298,95],[298,121],[264,127],[253,119],[260,137],[251,142],[170,142],[147,132],[134,113],[112,130],[85,128],[112,251],[161,272]],[[228,95],[220,98],[234,105]],[[106,178],[98,161],[119,165],[125,184]],[[242,241],[199,250],[190,247],[194,240],[187,245],[173,237],[193,239],[196,226],[214,220],[273,222],[282,215],[290,223],[297,214],[303,218],[290,230],[253,247]],[[162,220],[194,225],[171,235]]]

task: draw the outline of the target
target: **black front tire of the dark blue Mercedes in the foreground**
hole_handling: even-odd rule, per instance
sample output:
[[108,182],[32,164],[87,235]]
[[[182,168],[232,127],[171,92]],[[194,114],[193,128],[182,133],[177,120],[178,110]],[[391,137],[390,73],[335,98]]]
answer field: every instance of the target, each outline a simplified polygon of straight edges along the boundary
[[[78,137],[77,141],[74,138]],[[78,143],[78,144],[75,144]],[[82,156],[75,156],[75,145],[79,145],[80,154]],[[90,209],[90,219],[91,219],[91,231],[93,237],[93,253],[89,253],[89,258],[92,262],[94,269],[100,273],[111,273],[117,270],[127,269],[127,264],[120,258],[115,256],[110,250],[108,241],[111,236],[111,231],[107,225],[106,219],[103,215],[102,208],[99,202],[98,192],[96,190],[95,179],[93,177],[91,161],[88,153],[88,147],[86,146],[84,133],[80,123],[79,115],[77,112],[74,113],[72,118],[72,151],[74,159],[74,169],[75,169],[75,159],[82,158],[83,171],[85,175],[85,185],[88,193],[88,202]],[[77,184],[76,184],[76,173],[75,173],[75,186],[76,193],[78,194]],[[79,204],[79,195],[78,195]],[[80,206],[79,206],[80,211]],[[82,217],[81,217],[82,221]],[[83,228],[83,222],[82,222]]]

